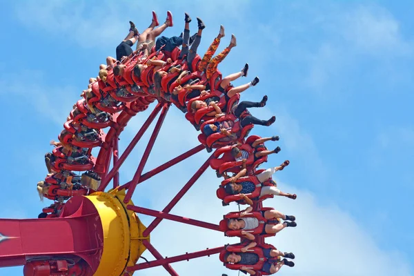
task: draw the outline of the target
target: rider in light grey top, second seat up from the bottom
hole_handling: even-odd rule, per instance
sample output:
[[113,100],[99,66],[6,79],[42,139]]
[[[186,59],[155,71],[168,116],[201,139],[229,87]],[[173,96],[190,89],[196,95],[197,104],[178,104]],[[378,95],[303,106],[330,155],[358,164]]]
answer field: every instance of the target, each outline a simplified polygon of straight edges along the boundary
[[[255,236],[249,232],[249,230],[254,230],[259,227],[260,221],[256,217],[246,217],[251,215],[253,208],[249,206],[246,210],[239,212],[239,218],[228,219],[227,227],[229,230],[242,230],[241,234],[246,239],[254,240]],[[260,211],[262,216],[265,219],[268,219],[268,222],[264,224],[263,231],[260,235],[266,234],[276,234],[280,230],[286,227],[296,227],[295,216],[293,215],[284,215],[278,210],[266,210]],[[283,219],[284,222],[281,224],[277,219]]]

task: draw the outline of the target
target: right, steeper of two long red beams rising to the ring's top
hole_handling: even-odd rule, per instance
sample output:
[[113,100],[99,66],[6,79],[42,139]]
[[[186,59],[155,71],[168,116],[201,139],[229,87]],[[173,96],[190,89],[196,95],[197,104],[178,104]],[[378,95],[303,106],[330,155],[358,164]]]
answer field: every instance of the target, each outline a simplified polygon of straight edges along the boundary
[[137,187],[139,183],[139,178],[141,177],[142,171],[144,170],[145,164],[148,161],[148,157],[150,157],[150,153],[152,150],[152,147],[155,144],[155,140],[157,139],[159,130],[161,130],[161,126],[164,123],[164,119],[166,119],[166,115],[168,112],[168,109],[170,108],[170,103],[165,103],[164,107],[162,108],[161,115],[159,115],[157,124],[155,125],[154,130],[152,131],[152,135],[150,137],[150,141],[148,142],[148,145],[146,146],[146,149],[144,151],[144,155],[142,155],[142,159],[139,162],[138,168],[135,171],[134,177],[132,177],[132,180],[130,181],[130,185],[128,187],[128,192],[125,195],[124,203],[128,203],[130,201],[132,194],[135,191],[135,188]]

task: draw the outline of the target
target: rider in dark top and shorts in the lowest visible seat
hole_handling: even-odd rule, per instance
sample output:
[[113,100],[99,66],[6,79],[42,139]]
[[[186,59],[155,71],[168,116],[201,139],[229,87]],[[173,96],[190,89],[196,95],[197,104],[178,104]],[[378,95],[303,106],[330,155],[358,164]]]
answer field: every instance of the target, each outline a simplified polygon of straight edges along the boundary
[[[282,251],[273,248],[273,246],[269,246],[269,248],[265,248],[264,246],[257,246],[257,243],[255,242],[251,242],[250,244],[241,248],[242,252],[227,252],[226,255],[224,255],[224,261],[228,264],[242,264],[244,265],[240,268],[240,271],[242,271],[242,273],[250,273],[250,275],[256,275],[256,271],[248,267],[257,264],[260,258],[256,253],[250,253],[248,251],[252,248],[257,247],[262,249],[262,255],[267,259],[261,269],[261,271],[264,273],[277,273],[283,265],[290,267],[295,266],[294,262],[286,259],[295,259],[295,255],[293,253],[282,253]],[[278,257],[284,257],[284,259],[279,261]]]

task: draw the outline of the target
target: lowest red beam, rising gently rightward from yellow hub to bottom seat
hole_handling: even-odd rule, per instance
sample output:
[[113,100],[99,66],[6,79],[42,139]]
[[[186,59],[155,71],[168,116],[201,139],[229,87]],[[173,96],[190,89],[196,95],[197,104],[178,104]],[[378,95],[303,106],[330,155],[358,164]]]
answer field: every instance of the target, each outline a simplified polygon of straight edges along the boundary
[[[144,241],[146,242],[146,239],[144,239]],[[223,250],[223,249],[224,249],[224,246],[221,246],[221,247],[206,249],[206,250],[197,251],[197,252],[193,252],[193,253],[186,253],[186,254],[183,254],[183,255],[175,256],[175,257],[168,257],[168,258],[165,258],[165,259],[157,259],[156,261],[136,264],[135,266],[129,266],[128,268],[126,268],[126,270],[135,271],[135,270],[140,270],[140,269],[152,268],[152,267],[155,267],[155,266],[162,266],[163,264],[171,264],[171,263],[175,263],[175,262],[188,261],[189,259],[195,259],[195,258],[204,257],[204,256],[209,256],[210,257],[210,255],[220,253],[221,250]]]

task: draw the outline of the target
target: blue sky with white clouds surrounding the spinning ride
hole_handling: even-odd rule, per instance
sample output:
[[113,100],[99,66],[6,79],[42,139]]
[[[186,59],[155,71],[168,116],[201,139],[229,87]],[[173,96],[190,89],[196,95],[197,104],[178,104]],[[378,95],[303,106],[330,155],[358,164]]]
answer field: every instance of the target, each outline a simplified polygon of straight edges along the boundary
[[[258,126],[254,132],[262,137],[280,135],[278,144],[268,146],[280,145],[282,152],[264,165],[289,159],[290,166],[277,179],[282,190],[298,195],[296,201],[266,202],[298,217],[297,228],[268,241],[297,255],[295,268],[283,268],[279,274],[413,275],[411,1],[3,1],[2,6],[1,139],[7,146],[1,162],[1,217],[36,217],[49,204],[39,202],[35,189],[46,175],[43,155],[51,150],[48,141],[57,138],[99,64],[115,56],[128,21],[135,21],[142,31],[150,23],[151,10],[160,21],[171,10],[175,26],[164,34],[172,36],[184,28],[186,11],[206,23],[201,55],[220,24],[226,27],[226,37],[219,50],[227,46],[231,33],[236,35],[237,47],[219,70],[227,75],[248,62],[248,78],[235,84],[255,75],[260,83],[242,98],[259,101],[268,95],[266,108],[251,111],[263,119],[277,117],[273,126]],[[121,148],[146,116],[143,112],[128,124]],[[197,145],[197,132],[180,111],[170,110],[164,125],[146,170]],[[166,144],[173,146],[165,150]],[[122,180],[132,177],[145,146],[139,144],[121,168]],[[206,157],[202,152],[141,184],[135,203],[164,208]],[[220,206],[215,199],[218,184],[214,172],[206,172],[172,213],[217,222],[224,213],[237,210]],[[11,196],[16,191],[19,196]],[[143,221],[148,224],[151,219]],[[229,242],[197,228],[167,221],[161,226],[152,241],[162,255]],[[171,238],[181,230],[188,239]],[[190,237],[197,242],[187,242]],[[195,266],[202,268],[200,275],[237,275],[224,270],[214,256],[173,265],[180,275],[193,275],[190,269]],[[154,269],[141,274],[164,273]],[[21,268],[3,268],[0,275],[21,275]]]

